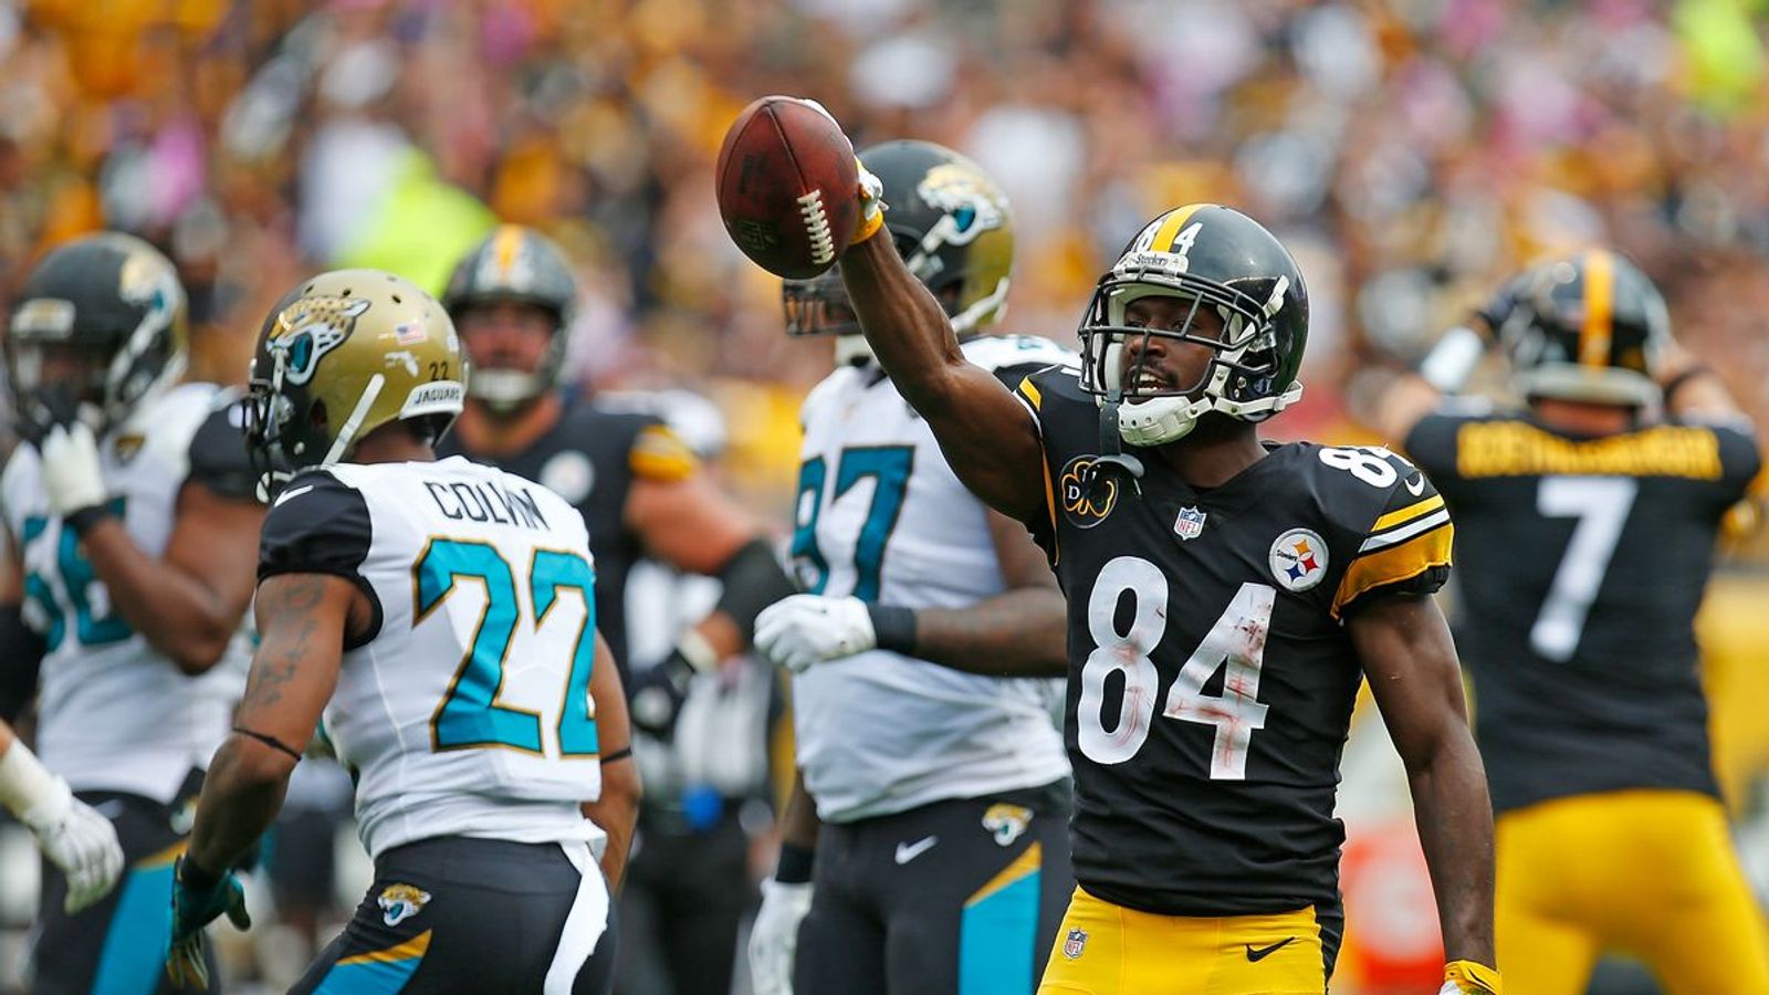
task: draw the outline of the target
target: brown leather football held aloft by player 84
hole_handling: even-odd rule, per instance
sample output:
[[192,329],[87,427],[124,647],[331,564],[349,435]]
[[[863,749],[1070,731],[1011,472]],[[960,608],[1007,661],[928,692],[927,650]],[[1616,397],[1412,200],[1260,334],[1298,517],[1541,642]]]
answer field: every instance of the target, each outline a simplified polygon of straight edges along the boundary
[[775,276],[823,273],[860,223],[854,147],[810,101],[770,96],[743,108],[715,175],[725,232]]

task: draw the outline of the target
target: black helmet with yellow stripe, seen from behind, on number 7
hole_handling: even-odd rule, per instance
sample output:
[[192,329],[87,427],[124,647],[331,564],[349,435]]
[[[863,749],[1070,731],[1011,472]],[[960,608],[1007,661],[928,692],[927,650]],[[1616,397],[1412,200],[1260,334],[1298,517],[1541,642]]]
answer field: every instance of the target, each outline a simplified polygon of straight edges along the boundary
[[1670,343],[1665,297],[1617,251],[1594,248],[1537,262],[1481,312],[1511,361],[1518,391],[1643,407],[1661,398]]

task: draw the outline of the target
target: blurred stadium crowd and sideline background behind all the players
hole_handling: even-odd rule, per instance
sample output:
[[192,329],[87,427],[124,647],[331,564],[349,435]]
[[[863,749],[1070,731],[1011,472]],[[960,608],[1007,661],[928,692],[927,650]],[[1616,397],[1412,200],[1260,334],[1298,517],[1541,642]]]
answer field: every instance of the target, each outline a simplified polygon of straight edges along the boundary
[[[729,427],[724,473],[785,522],[796,405],[828,351],[780,335],[778,283],[725,239],[711,168],[745,103],[791,92],[824,101],[856,143],[932,138],[1001,181],[1019,227],[1014,331],[1072,340],[1104,260],[1168,205],[1267,221],[1314,305],[1309,393],[1272,434],[1362,441],[1339,400],[1360,366],[1417,356],[1537,251],[1597,239],[1643,264],[1679,338],[1765,425],[1765,9],[0,0],[0,301],[44,248],[131,230],[184,274],[198,372],[239,381],[297,278],[363,264],[439,289],[495,220],[538,225],[584,282],[571,382],[708,395]],[[1760,885],[1765,604],[1758,535],[1728,549],[1702,630],[1718,763]],[[1346,758],[1337,991],[1383,991],[1405,977],[1389,961],[1436,956],[1405,786],[1373,726]],[[347,901],[366,880],[352,873]],[[34,882],[28,839],[0,827],[0,991]],[[251,944],[230,954],[242,977],[262,970]],[[1652,988],[1617,968],[1594,990]]]

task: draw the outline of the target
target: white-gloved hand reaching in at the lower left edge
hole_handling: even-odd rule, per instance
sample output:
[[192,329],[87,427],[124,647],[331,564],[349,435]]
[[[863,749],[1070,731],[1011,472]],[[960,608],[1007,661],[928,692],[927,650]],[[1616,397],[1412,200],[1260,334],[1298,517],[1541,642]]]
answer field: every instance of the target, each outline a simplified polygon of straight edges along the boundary
[[0,754],[0,804],[37,837],[51,864],[67,875],[69,914],[104,898],[122,875],[122,845],[110,820],[74,797],[25,744]]

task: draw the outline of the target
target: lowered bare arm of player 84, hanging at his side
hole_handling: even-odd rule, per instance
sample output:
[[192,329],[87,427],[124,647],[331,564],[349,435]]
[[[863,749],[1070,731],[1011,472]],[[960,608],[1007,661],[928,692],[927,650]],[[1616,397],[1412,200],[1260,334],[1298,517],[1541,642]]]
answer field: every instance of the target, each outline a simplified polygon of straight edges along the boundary
[[1355,613],[1346,630],[1406,765],[1445,960],[1491,968],[1493,807],[1449,625],[1431,598],[1390,595]]

